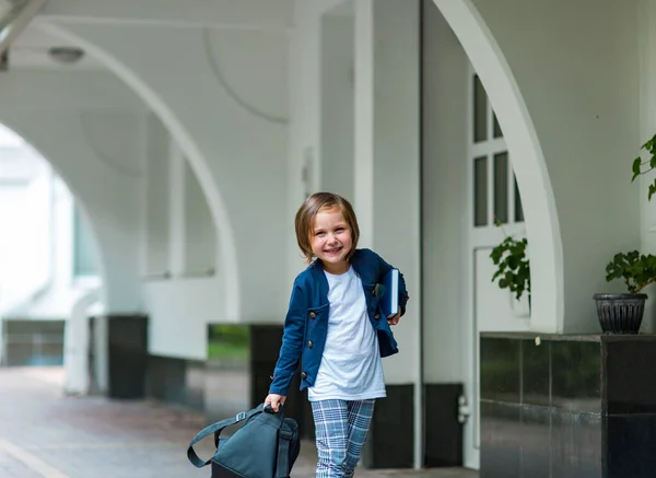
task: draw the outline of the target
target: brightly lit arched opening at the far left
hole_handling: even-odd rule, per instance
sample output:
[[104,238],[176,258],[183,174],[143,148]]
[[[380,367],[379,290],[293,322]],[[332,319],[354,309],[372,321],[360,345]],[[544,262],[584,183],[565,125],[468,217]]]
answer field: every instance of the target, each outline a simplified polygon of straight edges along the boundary
[[55,366],[57,383],[84,392],[87,336],[80,320],[105,305],[93,218],[47,156],[7,126],[0,220],[0,363]]

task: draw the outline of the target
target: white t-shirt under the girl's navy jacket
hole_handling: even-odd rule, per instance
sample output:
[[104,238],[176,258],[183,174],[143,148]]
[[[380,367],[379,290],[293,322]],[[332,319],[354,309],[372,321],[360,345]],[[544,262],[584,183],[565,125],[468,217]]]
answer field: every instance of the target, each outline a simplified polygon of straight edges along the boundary
[[370,324],[362,281],[351,267],[328,279],[328,334],[311,401],[385,397],[378,337]]

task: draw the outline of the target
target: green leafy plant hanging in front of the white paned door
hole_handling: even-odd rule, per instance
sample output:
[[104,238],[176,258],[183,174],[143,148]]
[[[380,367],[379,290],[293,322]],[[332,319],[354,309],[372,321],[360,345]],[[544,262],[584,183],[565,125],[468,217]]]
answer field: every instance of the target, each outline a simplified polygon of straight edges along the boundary
[[[495,220],[495,224],[503,231],[499,220]],[[527,292],[530,299],[530,263],[526,257],[528,241],[526,237],[520,240],[511,237],[505,231],[503,233],[505,238],[490,254],[490,258],[496,266],[492,282],[499,279],[499,287],[509,289],[517,300],[524,295],[524,292]]]

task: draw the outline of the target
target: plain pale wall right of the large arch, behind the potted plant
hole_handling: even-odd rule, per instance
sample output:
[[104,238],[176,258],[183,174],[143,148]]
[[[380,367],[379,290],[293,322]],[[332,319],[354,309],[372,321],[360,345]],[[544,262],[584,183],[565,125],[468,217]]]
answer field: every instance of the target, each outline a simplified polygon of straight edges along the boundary
[[[544,154],[562,234],[563,331],[598,331],[593,294],[623,290],[606,283],[606,264],[640,245],[639,191],[630,184],[642,144],[637,3],[475,4],[515,75]],[[518,179],[528,198],[519,172]],[[527,218],[529,238],[539,220]]]

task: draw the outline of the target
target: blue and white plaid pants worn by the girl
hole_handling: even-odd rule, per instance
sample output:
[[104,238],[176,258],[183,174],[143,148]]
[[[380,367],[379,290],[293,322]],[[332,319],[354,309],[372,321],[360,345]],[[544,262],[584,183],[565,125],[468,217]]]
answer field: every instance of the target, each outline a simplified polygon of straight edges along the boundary
[[375,400],[312,403],[319,460],[316,478],[351,478],[366,441]]

